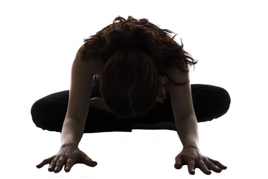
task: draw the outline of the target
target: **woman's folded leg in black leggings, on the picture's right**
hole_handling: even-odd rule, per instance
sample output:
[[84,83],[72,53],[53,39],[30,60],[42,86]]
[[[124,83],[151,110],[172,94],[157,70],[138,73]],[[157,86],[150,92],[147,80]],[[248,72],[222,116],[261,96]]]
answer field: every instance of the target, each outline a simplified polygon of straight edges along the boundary
[[[226,89],[208,84],[191,84],[194,113],[198,122],[211,121],[227,113],[231,98]],[[133,129],[176,130],[169,93],[163,104],[156,104],[144,119],[133,121]]]

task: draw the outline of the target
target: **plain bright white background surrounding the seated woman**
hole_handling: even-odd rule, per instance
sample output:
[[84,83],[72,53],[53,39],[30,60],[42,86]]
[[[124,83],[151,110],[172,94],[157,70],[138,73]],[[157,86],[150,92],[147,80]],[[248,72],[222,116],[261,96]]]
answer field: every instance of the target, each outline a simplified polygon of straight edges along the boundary
[[[69,173],[35,166],[57,153],[60,133],[32,122],[38,99],[69,89],[83,38],[118,15],[147,18],[178,35],[199,62],[191,84],[225,88],[229,111],[199,123],[199,148],[226,165],[205,175],[174,168],[182,144],[176,131],[87,133],[80,149],[98,162]],[[267,177],[267,5],[265,1],[1,1],[1,178],[243,178]],[[172,34],[175,35],[175,34]]]

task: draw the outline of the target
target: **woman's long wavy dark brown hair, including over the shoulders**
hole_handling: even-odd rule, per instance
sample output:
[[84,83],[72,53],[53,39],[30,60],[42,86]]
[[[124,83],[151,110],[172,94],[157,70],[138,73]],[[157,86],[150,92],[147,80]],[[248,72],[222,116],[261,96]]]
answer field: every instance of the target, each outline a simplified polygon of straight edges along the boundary
[[177,83],[166,73],[178,68],[187,73],[197,61],[183,50],[168,33],[148,19],[116,17],[113,23],[84,39],[78,51],[81,60],[100,57],[104,61],[100,92],[118,118],[142,116],[156,104],[163,103],[166,80]]

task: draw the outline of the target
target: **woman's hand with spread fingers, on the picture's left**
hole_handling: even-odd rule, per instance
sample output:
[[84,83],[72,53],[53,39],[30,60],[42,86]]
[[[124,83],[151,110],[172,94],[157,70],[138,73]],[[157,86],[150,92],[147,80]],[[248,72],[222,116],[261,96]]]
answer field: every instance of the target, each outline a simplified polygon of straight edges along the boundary
[[46,164],[50,164],[48,171],[54,171],[58,173],[61,171],[63,165],[65,165],[65,172],[69,172],[71,167],[75,164],[85,164],[90,167],[98,165],[97,162],[92,161],[83,151],[77,146],[67,144],[62,145],[59,152],[53,155],[51,158],[43,160],[36,167],[41,168]]

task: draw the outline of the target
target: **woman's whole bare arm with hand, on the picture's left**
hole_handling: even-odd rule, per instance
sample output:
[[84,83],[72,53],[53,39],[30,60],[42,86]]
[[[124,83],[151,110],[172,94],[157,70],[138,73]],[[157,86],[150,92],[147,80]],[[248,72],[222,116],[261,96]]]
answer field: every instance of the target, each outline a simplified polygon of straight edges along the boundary
[[43,160],[36,167],[41,168],[50,164],[48,171],[60,172],[63,165],[69,172],[77,163],[94,167],[97,165],[83,151],[78,144],[83,136],[88,108],[91,98],[93,76],[102,67],[100,59],[82,60],[76,56],[71,68],[71,84],[67,113],[61,130],[61,147],[58,153]]

